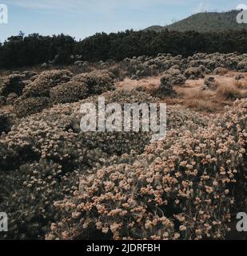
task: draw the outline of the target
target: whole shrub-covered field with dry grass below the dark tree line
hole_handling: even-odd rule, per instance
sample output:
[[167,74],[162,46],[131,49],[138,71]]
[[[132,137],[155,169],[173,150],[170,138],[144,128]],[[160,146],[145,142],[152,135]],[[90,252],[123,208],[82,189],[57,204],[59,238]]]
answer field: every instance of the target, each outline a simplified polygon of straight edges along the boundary
[[[247,54],[5,71],[2,239],[227,239],[246,212]],[[167,135],[82,133],[82,103],[167,104]],[[239,237],[233,237],[239,238]],[[241,237],[244,239],[244,237]]]

